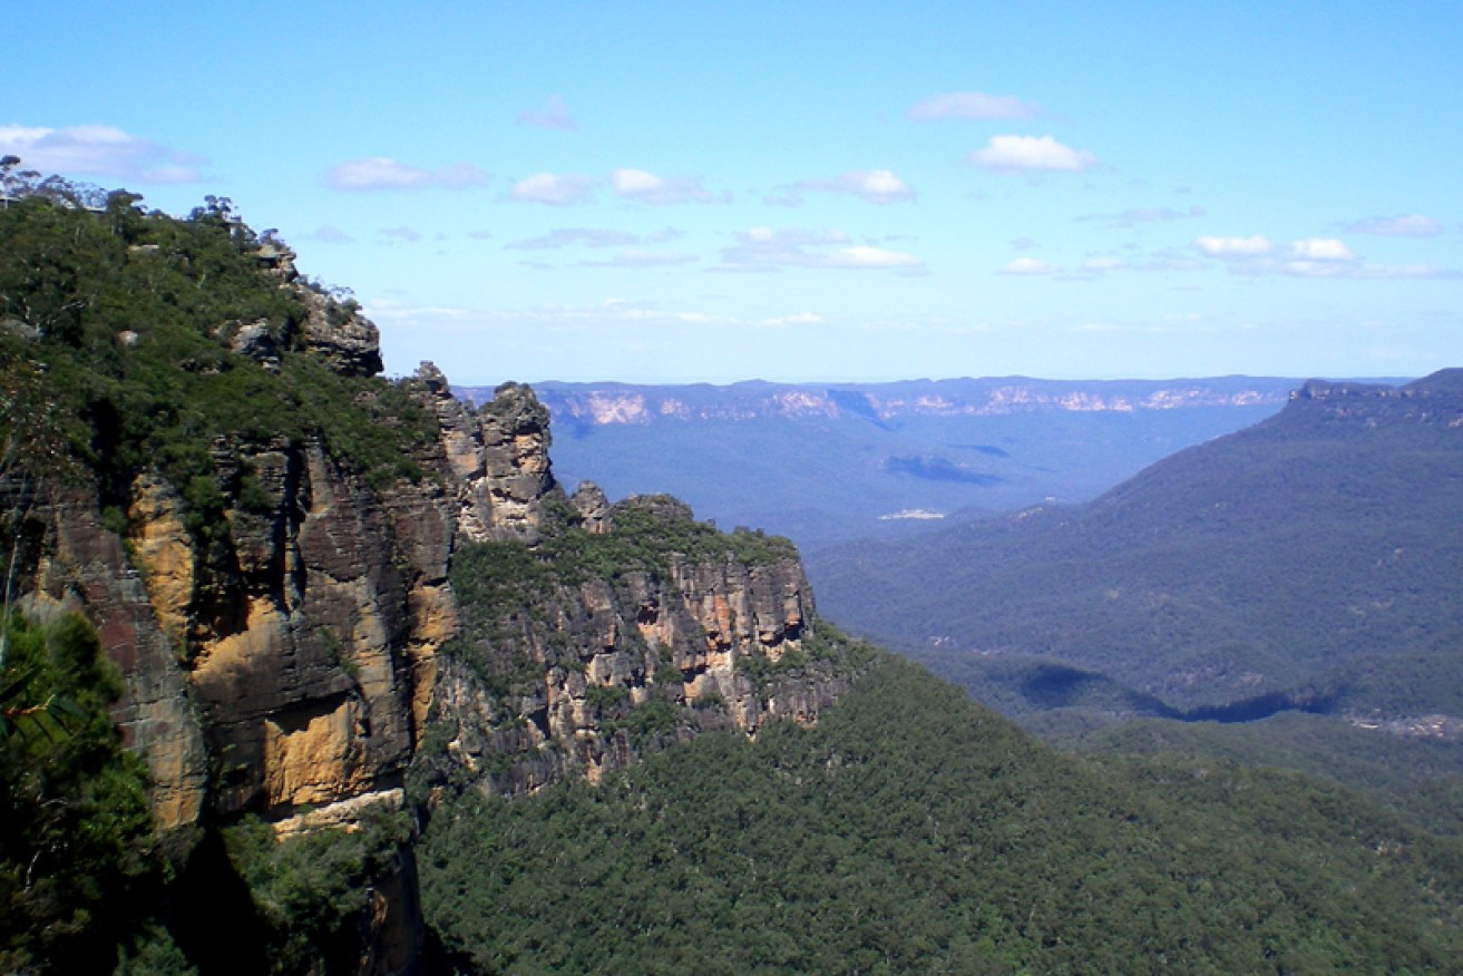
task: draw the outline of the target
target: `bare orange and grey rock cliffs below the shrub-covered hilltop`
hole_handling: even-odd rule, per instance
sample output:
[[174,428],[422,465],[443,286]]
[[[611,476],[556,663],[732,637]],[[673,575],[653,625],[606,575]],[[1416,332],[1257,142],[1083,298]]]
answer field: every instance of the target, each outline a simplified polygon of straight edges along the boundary
[[95,486],[28,515],[28,598],[98,623],[164,824],[399,802],[430,729],[452,736],[427,765],[493,792],[597,778],[699,729],[812,720],[844,686],[789,543],[566,496],[525,386],[478,410],[430,364],[402,386],[439,430],[415,480],[375,487],[319,438],[218,439],[217,524],[152,467],[110,515]]

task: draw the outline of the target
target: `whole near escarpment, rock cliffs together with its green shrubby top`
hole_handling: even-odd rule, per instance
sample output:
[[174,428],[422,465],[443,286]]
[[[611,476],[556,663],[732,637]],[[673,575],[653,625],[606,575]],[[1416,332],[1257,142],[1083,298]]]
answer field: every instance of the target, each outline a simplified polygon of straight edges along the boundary
[[395,838],[350,923],[360,972],[408,972],[424,938],[382,811],[811,721],[851,680],[790,543],[566,495],[530,388],[468,407],[432,364],[377,378],[358,306],[224,211],[48,206],[7,219],[92,249],[78,279],[129,312],[0,316],[7,601],[97,628],[162,827]]

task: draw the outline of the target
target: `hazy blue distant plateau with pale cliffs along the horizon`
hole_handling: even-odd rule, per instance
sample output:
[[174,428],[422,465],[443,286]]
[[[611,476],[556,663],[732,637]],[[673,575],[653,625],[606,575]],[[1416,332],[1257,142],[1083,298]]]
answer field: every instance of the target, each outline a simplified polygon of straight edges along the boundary
[[[805,549],[1081,502],[1280,410],[1296,379],[537,383],[554,470]],[[490,388],[459,386],[474,402]]]

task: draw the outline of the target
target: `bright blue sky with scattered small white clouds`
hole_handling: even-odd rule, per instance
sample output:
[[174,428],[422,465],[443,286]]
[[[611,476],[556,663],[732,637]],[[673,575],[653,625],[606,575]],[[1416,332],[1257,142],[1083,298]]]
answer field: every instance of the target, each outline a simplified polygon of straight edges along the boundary
[[7,12],[0,152],[458,383],[1463,366],[1456,3]]

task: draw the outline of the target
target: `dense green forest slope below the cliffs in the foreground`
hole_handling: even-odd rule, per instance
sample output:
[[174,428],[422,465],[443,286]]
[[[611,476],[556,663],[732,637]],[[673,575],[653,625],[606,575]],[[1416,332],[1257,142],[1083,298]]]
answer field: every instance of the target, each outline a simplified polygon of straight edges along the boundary
[[884,658],[816,727],[462,793],[418,850],[459,972],[1447,972],[1463,849],[1232,762],[1062,757]]

